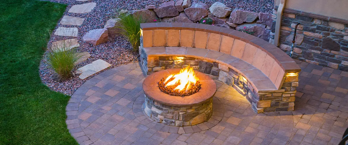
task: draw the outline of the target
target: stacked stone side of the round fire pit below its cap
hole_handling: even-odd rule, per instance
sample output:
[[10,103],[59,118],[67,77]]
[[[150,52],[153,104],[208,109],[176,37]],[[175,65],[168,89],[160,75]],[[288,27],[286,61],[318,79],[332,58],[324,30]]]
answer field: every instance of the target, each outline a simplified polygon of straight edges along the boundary
[[145,97],[144,112],[153,120],[170,126],[194,126],[208,121],[213,113],[213,98],[193,106],[168,106]]

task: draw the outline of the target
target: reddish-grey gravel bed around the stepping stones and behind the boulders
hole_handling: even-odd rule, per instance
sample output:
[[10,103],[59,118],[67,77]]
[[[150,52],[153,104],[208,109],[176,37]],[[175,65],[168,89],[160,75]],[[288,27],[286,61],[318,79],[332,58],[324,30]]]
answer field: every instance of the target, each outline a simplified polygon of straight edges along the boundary
[[[132,47],[130,43],[122,37],[117,37],[116,39],[109,39],[108,42],[103,43],[98,46],[92,46],[89,43],[82,41],[82,37],[89,30],[103,28],[106,21],[111,19],[117,11],[121,9],[133,10],[133,9],[143,9],[148,5],[155,5],[159,7],[161,3],[166,0],[90,0],[85,2],[80,2],[76,0],[49,0],[52,2],[59,2],[67,4],[67,8],[64,12],[64,15],[86,18],[84,23],[81,26],[69,26],[57,24],[55,30],[60,27],[77,27],[78,28],[78,37],[80,47],[77,48],[78,52],[88,52],[91,56],[84,62],[79,63],[73,72],[86,64],[89,64],[97,59],[103,59],[104,61],[110,63],[113,67],[120,65],[138,62],[139,55],[132,52]],[[168,1],[168,0],[167,0]],[[231,8],[241,8],[244,10],[250,10],[254,12],[264,12],[272,13],[274,6],[274,0],[192,0],[195,2],[204,2],[208,6],[211,6],[214,2],[219,1]],[[86,14],[75,14],[68,13],[68,10],[73,5],[80,5],[83,3],[95,2],[97,3],[96,7],[89,13]],[[58,21],[60,22],[60,20]],[[53,31],[54,33],[55,31]],[[61,37],[57,35],[52,35],[49,42],[48,48],[52,45],[52,42],[64,39],[72,39],[74,37]],[[57,78],[56,73],[49,67],[47,63],[47,52],[44,54],[44,57],[40,63],[40,77],[43,83],[45,83],[50,89],[61,92],[66,95],[72,95],[73,92],[79,88],[85,81],[92,78],[96,73],[84,80],[78,78],[78,74],[72,77],[69,80],[57,81],[54,78]],[[108,70],[106,69],[106,70]],[[105,70],[104,70],[105,71]]]

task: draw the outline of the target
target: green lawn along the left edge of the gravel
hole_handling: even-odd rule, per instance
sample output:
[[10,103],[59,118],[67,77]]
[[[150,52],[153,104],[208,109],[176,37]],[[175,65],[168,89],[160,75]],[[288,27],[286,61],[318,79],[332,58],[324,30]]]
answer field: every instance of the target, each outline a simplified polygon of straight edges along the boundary
[[39,62],[66,6],[0,2],[0,144],[77,144],[65,124],[69,96],[41,83]]

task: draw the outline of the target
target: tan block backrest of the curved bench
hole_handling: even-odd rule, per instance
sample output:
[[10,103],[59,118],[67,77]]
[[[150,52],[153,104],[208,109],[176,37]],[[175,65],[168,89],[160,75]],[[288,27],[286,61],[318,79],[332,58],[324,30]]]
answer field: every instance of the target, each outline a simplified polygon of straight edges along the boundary
[[[252,64],[268,76],[277,88],[281,88],[284,82],[286,73],[273,57],[260,48],[226,35],[193,30],[148,30],[143,31],[142,39],[144,47],[196,47],[220,51]],[[195,56],[199,56],[198,53],[195,52]]]

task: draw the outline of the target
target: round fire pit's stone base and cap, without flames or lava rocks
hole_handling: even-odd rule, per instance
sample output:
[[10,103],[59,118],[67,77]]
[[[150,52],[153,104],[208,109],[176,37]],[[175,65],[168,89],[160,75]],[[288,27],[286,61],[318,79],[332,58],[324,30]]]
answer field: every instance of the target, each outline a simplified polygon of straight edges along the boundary
[[208,75],[195,71],[200,89],[190,96],[172,96],[159,89],[158,82],[180,69],[153,73],[143,82],[144,112],[151,119],[170,126],[193,126],[209,120],[212,115],[216,84]]

